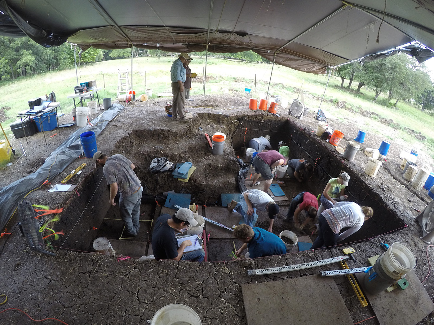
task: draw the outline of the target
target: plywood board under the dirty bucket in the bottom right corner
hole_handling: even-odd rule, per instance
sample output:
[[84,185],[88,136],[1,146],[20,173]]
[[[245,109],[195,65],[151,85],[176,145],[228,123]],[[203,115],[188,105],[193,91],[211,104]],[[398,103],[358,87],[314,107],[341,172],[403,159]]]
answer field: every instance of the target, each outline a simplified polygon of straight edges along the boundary
[[[363,283],[365,273],[355,276],[359,283]],[[381,325],[414,325],[434,310],[434,304],[416,273],[411,270],[405,278],[409,283],[405,290],[383,291],[376,296],[364,291]]]

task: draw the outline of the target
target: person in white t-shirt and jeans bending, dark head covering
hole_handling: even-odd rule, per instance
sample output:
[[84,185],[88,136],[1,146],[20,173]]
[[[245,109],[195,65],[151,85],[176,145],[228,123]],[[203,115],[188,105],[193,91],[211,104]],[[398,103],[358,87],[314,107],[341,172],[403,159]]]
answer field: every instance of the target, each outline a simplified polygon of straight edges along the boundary
[[279,213],[279,205],[273,201],[270,195],[258,190],[250,189],[240,195],[240,202],[232,200],[227,206],[229,212],[237,211],[244,218],[244,223],[250,227],[254,226],[256,209],[259,211],[267,211],[270,218],[270,227],[268,231],[273,232],[273,222],[276,215]]

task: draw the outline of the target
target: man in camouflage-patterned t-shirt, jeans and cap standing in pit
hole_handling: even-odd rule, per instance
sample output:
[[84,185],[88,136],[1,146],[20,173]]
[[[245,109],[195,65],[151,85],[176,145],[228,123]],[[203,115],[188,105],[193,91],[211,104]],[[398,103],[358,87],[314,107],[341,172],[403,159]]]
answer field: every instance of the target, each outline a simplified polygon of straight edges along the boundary
[[126,237],[137,236],[140,224],[140,203],[143,188],[134,173],[134,164],[122,155],[107,156],[102,151],[93,155],[95,167],[102,167],[107,185],[110,185],[110,204],[116,205],[119,190],[119,210],[128,232]]

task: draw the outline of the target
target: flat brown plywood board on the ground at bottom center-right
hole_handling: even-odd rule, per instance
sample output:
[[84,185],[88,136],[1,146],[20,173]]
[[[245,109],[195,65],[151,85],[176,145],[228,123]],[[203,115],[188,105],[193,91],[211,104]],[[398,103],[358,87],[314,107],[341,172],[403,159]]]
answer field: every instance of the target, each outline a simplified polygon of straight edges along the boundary
[[248,325],[353,325],[332,277],[243,284]]

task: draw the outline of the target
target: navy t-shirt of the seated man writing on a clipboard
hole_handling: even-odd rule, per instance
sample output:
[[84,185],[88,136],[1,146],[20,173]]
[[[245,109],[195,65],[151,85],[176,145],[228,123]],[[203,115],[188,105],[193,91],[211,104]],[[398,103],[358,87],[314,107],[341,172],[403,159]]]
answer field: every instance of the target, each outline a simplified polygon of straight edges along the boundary
[[171,260],[178,256],[178,240],[174,229],[167,224],[171,216],[161,214],[152,231],[152,252],[156,259]]

